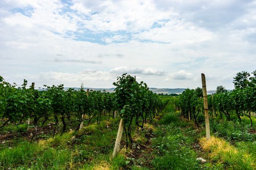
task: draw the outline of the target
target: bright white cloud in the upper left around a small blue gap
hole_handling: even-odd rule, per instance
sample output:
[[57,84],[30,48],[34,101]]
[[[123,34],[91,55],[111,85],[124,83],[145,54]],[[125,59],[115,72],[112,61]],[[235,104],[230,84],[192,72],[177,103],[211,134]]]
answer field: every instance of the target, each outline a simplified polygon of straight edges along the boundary
[[[13,2],[13,3],[16,3]],[[57,32],[65,35],[67,31],[77,31],[77,23],[66,13],[62,13],[63,3],[54,1],[31,1],[26,3],[20,3],[17,1],[16,8],[20,8],[20,11],[26,7],[31,6],[33,12],[31,16],[27,17],[17,12],[15,14],[9,14],[9,17],[4,18],[4,22],[7,25],[21,27],[25,29],[42,29]]]

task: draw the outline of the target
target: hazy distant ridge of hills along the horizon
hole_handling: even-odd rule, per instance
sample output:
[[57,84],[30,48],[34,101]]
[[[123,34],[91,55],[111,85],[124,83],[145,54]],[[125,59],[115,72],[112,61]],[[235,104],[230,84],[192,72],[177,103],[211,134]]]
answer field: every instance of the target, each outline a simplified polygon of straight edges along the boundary
[[[68,90],[69,87],[64,87],[64,90]],[[75,90],[78,90],[80,88],[78,87],[71,87],[71,88],[74,88]],[[94,90],[94,91],[103,91],[103,90],[106,90],[107,92],[109,93],[113,93],[115,88],[89,88],[89,87],[84,87],[84,89],[89,89],[89,90]],[[149,88],[149,90],[151,90],[153,93],[163,93],[163,94],[181,94],[184,90],[186,90],[185,88]],[[216,90],[208,90],[207,91],[207,94],[212,94],[212,93],[215,93]],[[228,91],[231,91],[231,90],[228,90]]]

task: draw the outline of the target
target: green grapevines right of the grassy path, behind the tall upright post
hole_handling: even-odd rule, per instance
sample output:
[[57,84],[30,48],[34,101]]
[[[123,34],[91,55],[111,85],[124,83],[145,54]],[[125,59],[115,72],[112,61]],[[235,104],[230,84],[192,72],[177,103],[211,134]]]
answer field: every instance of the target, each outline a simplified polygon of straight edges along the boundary
[[[221,118],[225,115],[228,121],[231,120],[231,114],[236,115],[239,121],[240,116],[247,116],[251,120],[251,112],[256,112],[256,86],[208,95],[207,101],[210,114],[220,114]],[[200,112],[203,113],[203,99],[196,90],[186,89],[174,104],[184,117],[189,120],[193,118],[198,125],[196,118]]]

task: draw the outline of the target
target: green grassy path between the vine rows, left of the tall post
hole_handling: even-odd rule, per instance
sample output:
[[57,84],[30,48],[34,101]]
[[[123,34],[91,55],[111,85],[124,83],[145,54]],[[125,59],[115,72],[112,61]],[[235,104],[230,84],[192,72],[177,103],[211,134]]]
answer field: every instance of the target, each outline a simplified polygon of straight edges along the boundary
[[195,138],[188,135],[195,132],[193,128],[184,128],[191,122],[181,121],[172,105],[168,105],[164,112],[155,132],[157,137],[152,141],[156,155],[152,160],[154,169],[198,169],[197,154],[191,148]]

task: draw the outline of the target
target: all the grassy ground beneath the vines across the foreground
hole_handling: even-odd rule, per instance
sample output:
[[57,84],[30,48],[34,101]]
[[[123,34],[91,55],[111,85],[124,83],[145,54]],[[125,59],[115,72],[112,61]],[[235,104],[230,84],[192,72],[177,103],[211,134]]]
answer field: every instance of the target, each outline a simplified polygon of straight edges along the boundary
[[[250,133],[251,128],[247,122],[239,124],[236,121],[217,122],[216,119],[211,119],[212,135],[225,139],[228,145],[237,150],[233,153],[220,150],[212,157],[211,153],[216,150],[214,147],[200,153],[194,150],[194,146],[198,145],[198,139],[205,135],[205,131],[201,132],[200,129],[194,128],[194,122],[181,119],[180,114],[175,112],[174,106],[168,104],[157,119],[153,119],[152,123],[148,122],[144,130],[139,130],[139,133],[133,124],[133,145],[148,144],[145,134],[149,132],[154,136],[150,139],[151,143],[148,146],[153,150],[147,152],[143,148],[141,155],[133,159],[129,155],[133,145],[129,145],[131,148],[127,151],[123,148],[116,158],[112,158],[119,118],[110,119],[109,122],[107,118],[102,116],[101,123],[97,125],[94,117],[91,124],[85,125],[81,133],[69,131],[63,135],[57,134],[55,138],[46,137],[44,140],[33,143],[18,136],[17,139],[8,141],[12,143],[12,147],[1,145],[0,169],[222,170],[255,167],[255,134]],[[199,120],[201,119],[204,120],[204,117],[201,116]],[[22,133],[26,130],[26,126],[10,125],[2,129],[2,131],[8,130]],[[124,134],[122,141],[125,141]],[[206,159],[207,163],[201,164],[196,160],[199,157]]]

